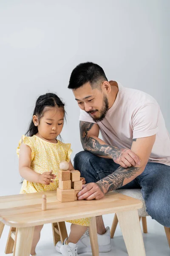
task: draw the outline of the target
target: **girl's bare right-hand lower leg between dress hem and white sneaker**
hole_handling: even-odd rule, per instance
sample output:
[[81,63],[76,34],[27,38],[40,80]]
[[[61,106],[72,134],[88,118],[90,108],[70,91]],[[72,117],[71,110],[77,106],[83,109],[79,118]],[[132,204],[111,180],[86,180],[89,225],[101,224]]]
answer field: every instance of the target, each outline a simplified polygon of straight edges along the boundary
[[67,243],[77,244],[77,242],[79,241],[79,239],[82,237],[82,235],[85,233],[87,229],[88,227],[85,227],[85,226],[71,224],[71,231],[70,231],[70,235],[68,237]]

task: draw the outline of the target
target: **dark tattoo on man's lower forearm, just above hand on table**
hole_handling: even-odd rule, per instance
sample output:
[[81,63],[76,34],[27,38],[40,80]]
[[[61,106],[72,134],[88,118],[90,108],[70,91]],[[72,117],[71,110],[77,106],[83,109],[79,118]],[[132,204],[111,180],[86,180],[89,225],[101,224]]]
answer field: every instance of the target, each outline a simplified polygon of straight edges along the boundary
[[115,172],[113,172],[111,175],[108,175],[107,177],[103,178],[102,180],[99,180],[97,182],[97,185],[99,188],[103,191],[109,192],[114,189],[119,189],[123,186],[123,182],[125,179],[128,179],[136,174],[136,172],[139,171],[141,167],[128,167],[123,168],[119,167]]

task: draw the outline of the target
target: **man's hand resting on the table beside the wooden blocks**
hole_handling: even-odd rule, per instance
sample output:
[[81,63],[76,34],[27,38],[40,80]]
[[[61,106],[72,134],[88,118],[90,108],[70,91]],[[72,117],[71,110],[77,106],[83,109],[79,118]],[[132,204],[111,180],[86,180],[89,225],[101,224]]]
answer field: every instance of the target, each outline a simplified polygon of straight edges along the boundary
[[98,182],[83,185],[83,189],[77,194],[78,200],[92,200],[103,198],[106,191],[102,189]]

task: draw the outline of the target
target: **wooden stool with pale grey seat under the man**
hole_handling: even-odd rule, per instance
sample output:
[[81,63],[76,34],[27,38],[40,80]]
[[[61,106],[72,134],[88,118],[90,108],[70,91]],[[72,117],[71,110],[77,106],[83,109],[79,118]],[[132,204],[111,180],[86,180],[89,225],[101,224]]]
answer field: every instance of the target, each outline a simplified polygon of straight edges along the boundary
[[[141,209],[138,210],[139,213],[139,221],[142,218],[142,227],[143,227],[143,233],[147,233],[147,220],[146,217],[149,216],[146,212],[146,205],[144,202],[144,199],[142,197],[142,192],[140,189],[117,189],[115,190],[116,192],[123,194],[123,195],[128,195],[130,197],[139,199],[143,202],[143,207]],[[117,215],[115,213],[114,215],[114,219],[113,219],[113,223],[112,223],[112,227],[111,227],[111,238],[113,238],[116,227],[118,224],[118,218]],[[170,227],[164,227],[166,236],[167,236],[167,241],[170,247]]]

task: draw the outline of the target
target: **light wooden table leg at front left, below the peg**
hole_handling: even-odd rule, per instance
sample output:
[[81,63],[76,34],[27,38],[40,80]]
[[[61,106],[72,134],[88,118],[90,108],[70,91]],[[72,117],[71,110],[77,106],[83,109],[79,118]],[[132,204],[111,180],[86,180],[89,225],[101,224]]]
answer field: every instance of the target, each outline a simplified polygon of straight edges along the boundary
[[15,256],[30,256],[34,227],[19,227]]

